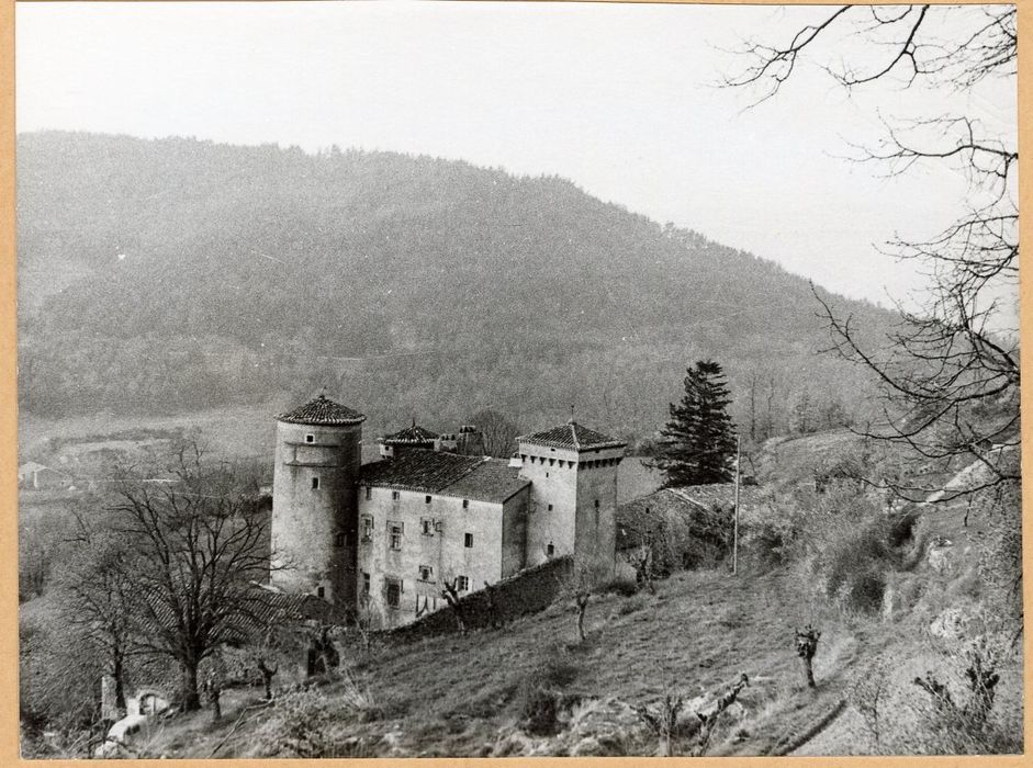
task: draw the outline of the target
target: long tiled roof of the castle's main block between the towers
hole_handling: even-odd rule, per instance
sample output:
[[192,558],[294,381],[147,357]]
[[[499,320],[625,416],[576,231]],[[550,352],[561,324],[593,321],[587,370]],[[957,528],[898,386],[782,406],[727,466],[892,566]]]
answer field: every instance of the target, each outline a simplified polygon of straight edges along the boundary
[[503,459],[408,451],[362,466],[362,485],[502,502],[529,485]]

